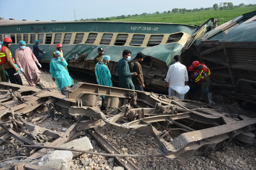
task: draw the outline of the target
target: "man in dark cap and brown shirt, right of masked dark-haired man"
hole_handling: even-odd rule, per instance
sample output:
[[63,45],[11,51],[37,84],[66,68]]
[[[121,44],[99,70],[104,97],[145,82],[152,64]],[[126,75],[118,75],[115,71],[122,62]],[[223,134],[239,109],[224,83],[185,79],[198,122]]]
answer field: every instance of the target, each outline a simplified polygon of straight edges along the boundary
[[135,86],[135,89],[138,91],[144,91],[143,88],[145,87],[143,81],[143,73],[140,63],[144,59],[144,54],[142,52],[137,53],[135,60],[131,62],[130,65],[130,72],[136,72],[138,75],[132,76],[132,83]]

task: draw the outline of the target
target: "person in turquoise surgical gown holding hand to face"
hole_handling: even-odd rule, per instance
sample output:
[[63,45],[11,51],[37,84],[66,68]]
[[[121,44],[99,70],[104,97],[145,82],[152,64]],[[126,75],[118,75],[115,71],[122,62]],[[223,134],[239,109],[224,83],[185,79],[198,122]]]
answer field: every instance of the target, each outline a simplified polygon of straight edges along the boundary
[[56,82],[58,91],[62,95],[66,95],[65,89],[67,86],[74,84],[74,80],[68,74],[65,67],[68,65],[67,61],[62,57],[60,51],[55,51],[55,57],[50,61],[50,73],[52,80]]

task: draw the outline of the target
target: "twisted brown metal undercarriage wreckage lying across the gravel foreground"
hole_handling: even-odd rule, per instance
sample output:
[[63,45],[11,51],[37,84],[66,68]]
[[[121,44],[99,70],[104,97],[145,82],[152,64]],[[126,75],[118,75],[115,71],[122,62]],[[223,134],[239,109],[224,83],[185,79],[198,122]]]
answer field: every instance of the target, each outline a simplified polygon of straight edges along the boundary
[[[223,140],[253,144],[256,132],[256,118],[223,113],[220,109],[196,101],[116,87],[77,83],[67,91],[65,97],[48,89],[0,82],[0,93],[0,127],[7,132],[0,138],[0,143],[12,136],[24,144],[60,146],[90,128],[106,124],[122,135],[141,132],[154,136],[160,153],[168,158],[188,158],[204,145],[212,150],[222,147]],[[99,95],[106,96],[105,107],[119,107],[121,112],[117,115],[104,115],[97,107]],[[42,118],[26,120],[38,111],[48,113],[44,119],[48,115],[53,119],[55,110],[64,117],[79,119],[75,119],[76,123],[66,132],[55,132],[31,123]],[[197,123],[202,130],[194,130],[190,128],[191,125],[188,127],[176,120]],[[162,132],[151,124],[159,121],[168,123],[166,127],[161,126],[164,128]],[[171,124],[180,128],[169,128]],[[177,129],[185,132],[172,139],[169,132]],[[51,138],[44,138],[43,135]],[[53,139],[53,142],[49,142]],[[35,152],[34,149],[30,152],[32,155],[28,156],[35,158],[47,150],[43,148]]]

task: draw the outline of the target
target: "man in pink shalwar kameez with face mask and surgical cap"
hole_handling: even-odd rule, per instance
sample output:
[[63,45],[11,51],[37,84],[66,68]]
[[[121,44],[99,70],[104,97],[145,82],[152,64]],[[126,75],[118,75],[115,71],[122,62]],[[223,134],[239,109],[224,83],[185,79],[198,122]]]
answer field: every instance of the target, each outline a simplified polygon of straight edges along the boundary
[[[19,43],[20,46],[25,46],[26,43],[21,41]],[[36,64],[38,64],[40,67],[40,63],[36,59],[36,56],[33,54],[31,49],[29,47],[19,47],[15,51],[15,59],[16,64],[18,67],[20,67],[20,71],[24,74],[25,78],[28,81],[28,84],[30,87],[35,87],[34,82],[36,85],[42,87],[42,83],[40,83],[40,71],[37,68]]]

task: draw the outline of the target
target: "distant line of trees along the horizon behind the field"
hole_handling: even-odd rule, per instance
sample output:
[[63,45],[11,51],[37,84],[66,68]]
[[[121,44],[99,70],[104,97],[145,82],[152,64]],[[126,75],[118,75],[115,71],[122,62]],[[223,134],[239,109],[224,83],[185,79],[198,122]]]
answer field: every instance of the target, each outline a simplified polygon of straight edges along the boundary
[[247,6],[256,6],[256,4],[249,4],[246,5],[244,3],[241,3],[239,5],[235,5],[232,2],[220,2],[220,4],[214,4],[212,7],[208,8],[194,8],[193,10],[187,10],[186,8],[173,8],[172,11],[164,11],[164,12],[153,12],[152,14],[144,12],[143,14],[134,14],[134,15],[121,15],[121,16],[112,16],[112,17],[106,17],[106,18],[88,18],[88,19],[81,19],[81,20],[75,20],[75,21],[111,21],[111,20],[118,20],[118,19],[124,19],[124,18],[131,18],[136,16],[147,16],[147,15],[154,15],[154,14],[170,14],[170,13],[182,13],[185,14],[186,12],[194,12],[194,11],[202,11],[202,10],[226,10],[226,9],[233,9],[233,8],[239,8],[239,7],[247,7]]

